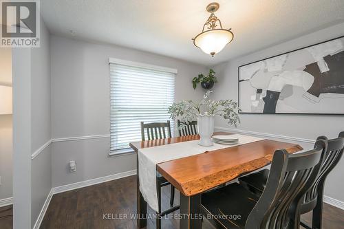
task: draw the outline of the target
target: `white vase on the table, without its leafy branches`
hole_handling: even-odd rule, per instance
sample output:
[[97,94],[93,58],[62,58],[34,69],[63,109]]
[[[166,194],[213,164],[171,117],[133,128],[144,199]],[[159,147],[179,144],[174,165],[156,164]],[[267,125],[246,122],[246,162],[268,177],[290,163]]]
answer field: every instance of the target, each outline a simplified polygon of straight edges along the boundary
[[201,137],[200,146],[212,146],[211,136],[214,133],[214,116],[199,115],[197,117],[198,134]]

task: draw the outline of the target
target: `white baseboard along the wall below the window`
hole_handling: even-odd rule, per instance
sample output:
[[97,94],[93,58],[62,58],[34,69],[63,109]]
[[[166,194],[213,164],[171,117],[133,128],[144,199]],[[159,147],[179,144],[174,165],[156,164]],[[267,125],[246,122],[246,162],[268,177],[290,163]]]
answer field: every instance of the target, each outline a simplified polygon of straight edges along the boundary
[[54,188],[52,188],[52,190],[53,190],[53,194],[63,193],[63,192],[66,192],[68,190],[74,190],[74,189],[77,189],[77,188],[83,188],[83,187],[91,186],[91,185],[94,185],[94,184],[100,184],[100,183],[103,183],[103,182],[109,182],[109,181],[114,180],[114,179],[120,179],[120,178],[123,178],[123,177],[129,177],[131,175],[136,175],[136,169],[132,170],[132,171],[123,172],[123,173],[116,173],[114,175],[108,175],[106,177],[99,177],[99,178],[95,178],[95,179],[88,179],[88,180],[85,180],[83,182],[76,182],[76,183],[73,183],[73,184],[66,184],[66,185],[63,185],[63,186],[54,187]]

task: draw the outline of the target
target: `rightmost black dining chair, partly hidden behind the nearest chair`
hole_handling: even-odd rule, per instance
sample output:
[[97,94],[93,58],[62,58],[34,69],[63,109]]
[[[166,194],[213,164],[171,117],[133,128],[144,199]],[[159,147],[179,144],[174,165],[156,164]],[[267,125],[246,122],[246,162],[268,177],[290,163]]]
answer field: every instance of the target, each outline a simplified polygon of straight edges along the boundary
[[[317,140],[327,140],[326,137],[321,136]],[[321,229],[322,227],[322,212],[323,212],[323,189],[327,175],[338,164],[341,156],[343,155],[344,147],[344,131],[339,133],[338,138],[327,141],[327,151],[323,153],[324,160],[321,164],[320,172],[316,177],[316,183],[308,190],[303,198],[303,202],[300,208],[300,214],[312,212],[312,228]],[[252,173],[244,177],[239,178],[239,183],[247,190],[250,190],[255,195],[261,195],[269,176],[269,170],[264,169],[257,173]],[[300,222],[301,226],[310,229],[311,227],[303,222]]]

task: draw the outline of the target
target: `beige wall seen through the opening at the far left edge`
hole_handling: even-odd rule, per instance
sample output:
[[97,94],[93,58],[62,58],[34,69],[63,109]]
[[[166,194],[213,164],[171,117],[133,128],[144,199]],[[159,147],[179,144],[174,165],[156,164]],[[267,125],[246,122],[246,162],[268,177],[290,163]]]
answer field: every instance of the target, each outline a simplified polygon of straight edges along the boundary
[[[0,47],[0,85],[12,85],[12,54]],[[12,115],[0,115],[0,199],[12,197]]]

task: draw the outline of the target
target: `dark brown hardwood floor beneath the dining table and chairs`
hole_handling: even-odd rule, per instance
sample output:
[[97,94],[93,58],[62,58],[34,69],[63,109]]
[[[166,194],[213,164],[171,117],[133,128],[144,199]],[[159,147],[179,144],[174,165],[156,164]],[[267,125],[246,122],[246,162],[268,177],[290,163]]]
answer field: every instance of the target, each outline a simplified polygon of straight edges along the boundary
[[[169,208],[169,186],[164,187],[162,193],[162,199],[164,199],[162,208]],[[178,202],[179,193],[176,192],[175,203]],[[176,211],[176,213],[178,212]],[[136,219],[131,219],[131,216],[135,213],[136,176],[131,176],[54,195],[45,213],[41,229],[134,229],[136,228]],[[154,215],[151,209],[148,210],[148,213]],[[12,228],[12,217],[3,217],[11,214],[12,208],[0,208],[1,229]],[[107,219],[103,219],[104,214]],[[310,224],[310,214],[303,215],[302,219]],[[148,220],[147,228],[155,228],[155,219]],[[162,229],[178,228],[178,219],[162,219]],[[211,229],[213,227],[204,220],[202,228]],[[325,204],[323,228],[344,229],[344,210]]]

